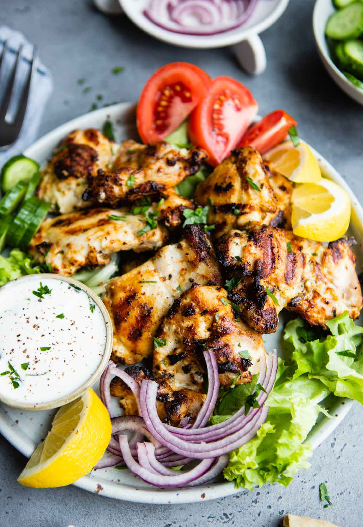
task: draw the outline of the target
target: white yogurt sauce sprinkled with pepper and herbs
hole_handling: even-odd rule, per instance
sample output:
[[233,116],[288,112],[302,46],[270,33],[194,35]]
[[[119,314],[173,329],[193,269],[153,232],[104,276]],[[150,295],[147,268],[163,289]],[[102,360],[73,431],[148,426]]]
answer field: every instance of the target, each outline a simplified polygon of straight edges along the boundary
[[41,282],[34,275],[0,289],[0,397],[34,407],[80,388],[106,344],[102,312],[89,295],[54,278]]

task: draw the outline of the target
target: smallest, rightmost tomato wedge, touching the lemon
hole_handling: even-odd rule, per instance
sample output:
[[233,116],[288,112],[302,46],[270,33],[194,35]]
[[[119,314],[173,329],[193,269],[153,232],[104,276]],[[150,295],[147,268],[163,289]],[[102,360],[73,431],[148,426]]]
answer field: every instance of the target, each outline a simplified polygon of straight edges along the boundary
[[286,137],[291,126],[297,122],[283,110],[275,110],[265,115],[243,135],[238,147],[254,147],[261,154],[267,152]]

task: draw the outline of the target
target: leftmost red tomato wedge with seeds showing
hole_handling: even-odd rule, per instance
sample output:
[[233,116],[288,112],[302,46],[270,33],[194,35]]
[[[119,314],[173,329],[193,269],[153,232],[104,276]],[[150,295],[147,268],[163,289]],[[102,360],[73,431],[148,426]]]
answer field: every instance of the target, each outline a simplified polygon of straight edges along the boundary
[[146,82],[136,111],[144,143],[161,141],[176,130],[207,94],[210,76],[194,64],[172,62]]

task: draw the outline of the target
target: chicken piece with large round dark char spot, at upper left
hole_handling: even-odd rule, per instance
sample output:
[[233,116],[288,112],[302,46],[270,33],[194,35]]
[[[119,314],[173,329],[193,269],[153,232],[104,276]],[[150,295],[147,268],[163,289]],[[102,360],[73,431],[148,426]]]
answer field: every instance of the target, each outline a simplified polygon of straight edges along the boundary
[[42,169],[37,197],[61,214],[90,205],[82,199],[87,178],[111,168],[115,143],[100,130],[74,130],[66,136],[53,158]]

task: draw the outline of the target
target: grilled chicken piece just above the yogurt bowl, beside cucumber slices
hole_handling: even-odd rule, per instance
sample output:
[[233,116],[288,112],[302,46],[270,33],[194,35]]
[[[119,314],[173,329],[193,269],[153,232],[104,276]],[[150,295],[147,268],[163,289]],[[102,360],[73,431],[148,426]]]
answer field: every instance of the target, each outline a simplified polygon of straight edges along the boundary
[[[164,227],[147,232],[142,214],[128,209],[92,209],[45,219],[30,242],[29,252],[37,262],[45,262],[52,272],[73,275],[81,267],[105,266],[110,255],[132,249],[158,249],[168,239]],[[122,217],[118,221],[114,216]]]

